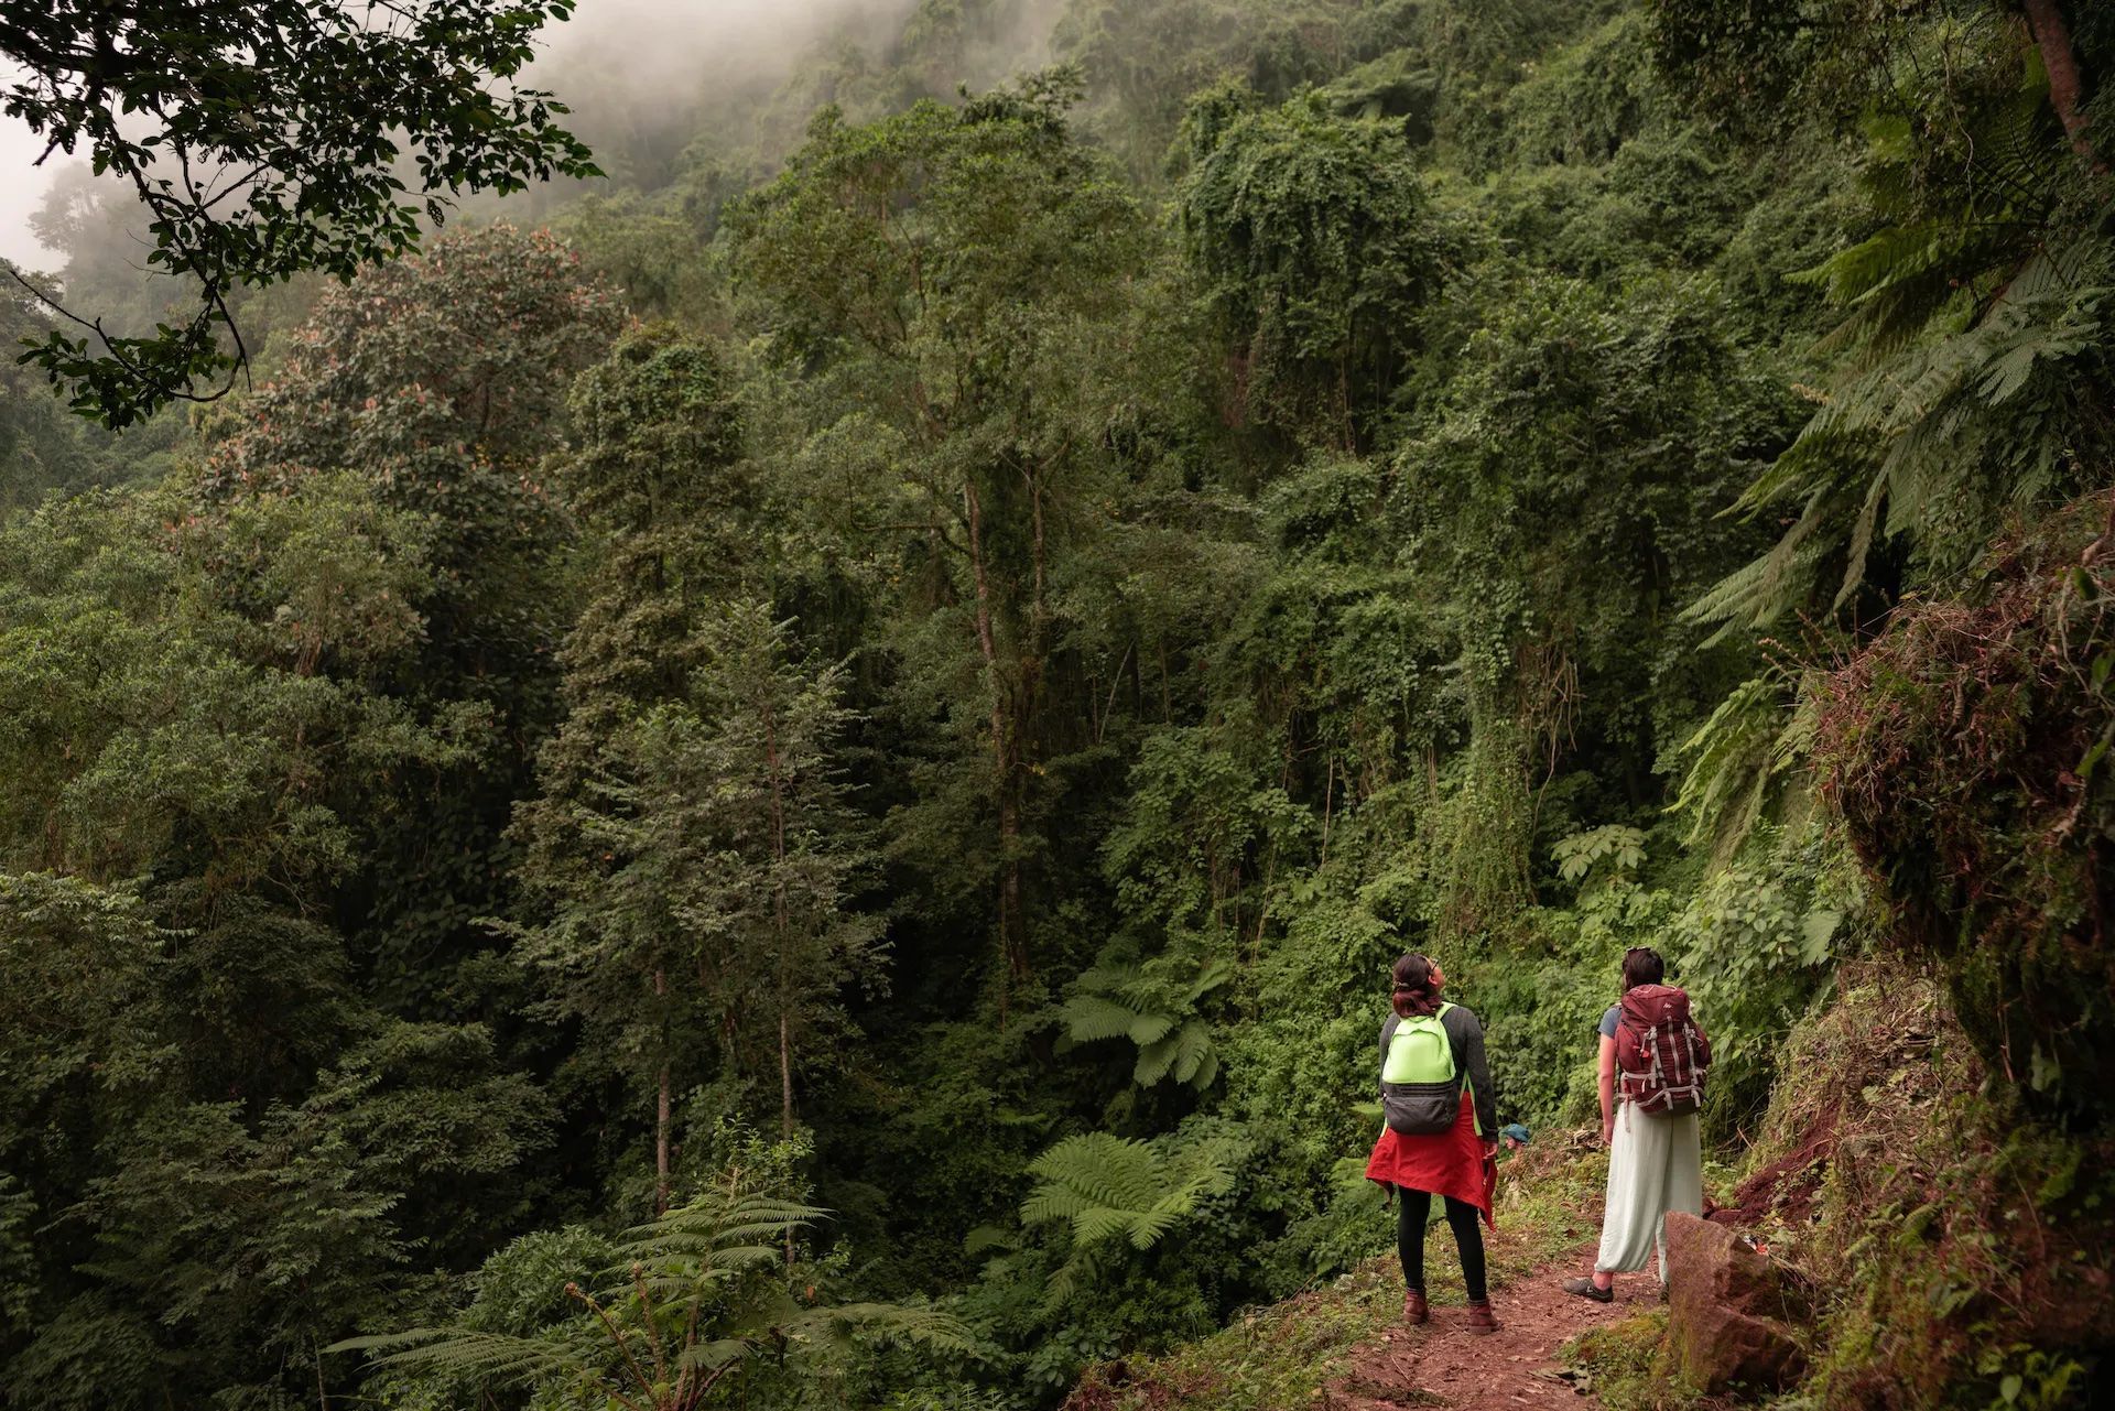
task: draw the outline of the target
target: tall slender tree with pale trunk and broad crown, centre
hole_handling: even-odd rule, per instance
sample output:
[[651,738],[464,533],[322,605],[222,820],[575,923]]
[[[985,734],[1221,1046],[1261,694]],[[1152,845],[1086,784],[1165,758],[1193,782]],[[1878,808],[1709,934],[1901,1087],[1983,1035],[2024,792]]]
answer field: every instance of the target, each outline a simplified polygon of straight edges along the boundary
[[1072,97],[1074,76],[1058,70],[867,127],[827,112],[787,173],[732,216],[778,351],[816,360],[871,408],[867,527],[903,537],[931,588],[905,637],[928,633],[935,607],[956,633],[939,668],[979,707],[960,726],[988,762],[979,853],[1003,1013],[1034,969],[1026,888],[1043,840],[1028,821],[1060,637],[1055,558],[1108,489],[1098,453],[1123,393],[1093,372],[1123,358],[1117,330],[1146,250],[1138,203],[1066,127]]

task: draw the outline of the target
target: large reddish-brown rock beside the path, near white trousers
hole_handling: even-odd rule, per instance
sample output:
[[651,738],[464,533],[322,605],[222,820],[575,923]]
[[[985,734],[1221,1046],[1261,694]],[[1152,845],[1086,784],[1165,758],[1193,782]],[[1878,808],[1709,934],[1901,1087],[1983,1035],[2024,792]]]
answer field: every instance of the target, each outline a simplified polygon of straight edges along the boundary
[[1726,1225],[1667,1216],[1667,1337],[1705,1392],[1785,1388],[1806,1369],[1770,1261]]

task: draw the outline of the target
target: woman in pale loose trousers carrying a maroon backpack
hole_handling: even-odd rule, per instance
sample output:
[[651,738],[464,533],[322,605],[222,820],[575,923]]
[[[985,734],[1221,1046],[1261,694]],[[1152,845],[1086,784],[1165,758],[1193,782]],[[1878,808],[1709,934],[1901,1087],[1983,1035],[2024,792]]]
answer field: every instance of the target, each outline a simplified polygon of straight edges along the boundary
[[1645,1267],[1658,1246],[1667,1295],[1667,1212],[1703,1214],[1705,1157],[1696,1134],[1711,1043],[1690,1018],[1690,996],[1662,984],[1667,963],[1650,948],[1622,956],[1622,1001],[1601,1015],[1601,1144],[1607,1206],[1593,1278],[1567,1278],[1565,1293],[1616,1299],[1616,1276]]

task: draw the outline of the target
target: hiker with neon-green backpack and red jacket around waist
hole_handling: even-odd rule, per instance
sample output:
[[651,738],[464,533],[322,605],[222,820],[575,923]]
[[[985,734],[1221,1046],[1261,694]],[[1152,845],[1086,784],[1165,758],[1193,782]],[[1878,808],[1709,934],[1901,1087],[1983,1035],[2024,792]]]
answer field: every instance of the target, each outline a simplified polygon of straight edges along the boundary
[[[1426,1322],[1426,1221],[1432,1197],[1447,1202],[1447,1223],[1461,1250],[1468,1331],[1495,1333],[1485,1288],[1481,1214],[1491,1223],[1497,1180],[1497,1092],[1483,1060],[1483,1024],[1461,1005],[1440,1001],[1447,975],[1409,954],[1394,969],[1394,1013],[1381,1024],[1381,1140],[1366,1180],[1402,1197],[1396,1252],[1402,1257],[1402,1316]],[[1464,1087],[1464,1079],[1468,1081]]]

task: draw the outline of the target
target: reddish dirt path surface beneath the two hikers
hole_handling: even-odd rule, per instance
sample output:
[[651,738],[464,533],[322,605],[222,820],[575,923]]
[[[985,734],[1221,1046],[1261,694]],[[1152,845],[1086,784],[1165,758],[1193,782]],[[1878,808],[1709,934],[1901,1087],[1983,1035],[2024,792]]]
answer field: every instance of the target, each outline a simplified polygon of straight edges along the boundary
[[1436,1305],[1432,1322],[1398,1324],[1381,1341],[1360,1348],[1351,1369],[1324,1394],[1330,1411],[1398,1411],[1455,1407],[1457,1411],[1519,1411],[1521,1407],[1599,1405],[1559,1377],[1557,1350],[1597,1322],[1616,1322],[1656,1307],[1658,1282],[1650,1273],[1616,1280],[1614,1303],[1593,1303],[1563,1293],[1559,1280],[1588,1267],[1590,1248],[1491,1293],[1500,1331],[1474,1337],[1459,1303]]

